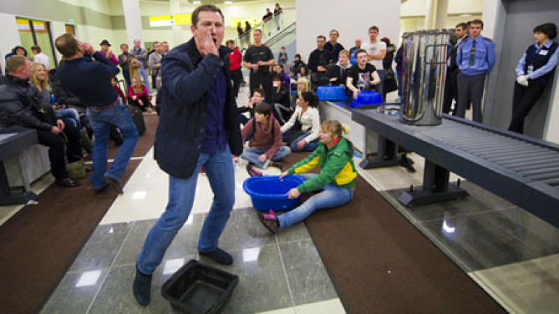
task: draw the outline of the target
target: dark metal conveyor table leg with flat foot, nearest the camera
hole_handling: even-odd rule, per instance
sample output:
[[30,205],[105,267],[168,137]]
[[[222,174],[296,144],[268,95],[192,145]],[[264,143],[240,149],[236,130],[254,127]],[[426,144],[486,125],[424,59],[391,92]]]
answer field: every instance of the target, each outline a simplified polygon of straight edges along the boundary
[[423,172],[423,187],[419,192],[404,192],[398,200],[406,206],[433,204],[466,197],[468,194],[458,186],[449,185],[449,170],[435,163],[425,160]]

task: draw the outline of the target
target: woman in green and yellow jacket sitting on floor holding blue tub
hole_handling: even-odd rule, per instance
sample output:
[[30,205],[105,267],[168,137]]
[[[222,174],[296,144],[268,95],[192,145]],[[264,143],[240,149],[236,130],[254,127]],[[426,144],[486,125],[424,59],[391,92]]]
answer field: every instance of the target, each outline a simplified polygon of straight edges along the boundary
[[[289,190],[289,198],[299,197],[301,193],[312,195],[299,207],[286,214],[276,216],[270,209],[269,214],[260,214],[260,220],[270,232],[290,227],[305,220],[317,209],[337,207],[346,204],[354,197],[357,172],[354,165],[353,144],[342,133],[348,133],[346,126],[335,120],[324,121],[320,130],[320,144],[310,156],[293,165],[282,173],[279,179],[289,174],[303,174],[303,184]],[[319,174],[305,174],[320,166]]]

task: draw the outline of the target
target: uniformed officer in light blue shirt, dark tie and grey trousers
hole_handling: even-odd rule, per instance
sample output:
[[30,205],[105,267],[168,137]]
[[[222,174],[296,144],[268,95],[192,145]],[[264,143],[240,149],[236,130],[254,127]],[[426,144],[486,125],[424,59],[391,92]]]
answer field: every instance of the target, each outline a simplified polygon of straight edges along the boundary
[[472,103],[474,121],[481,122],[481,98],[484,96],[486,76],[495,65],[495,44],[481,36],[484,22],[473,20],[468,23],[470,37],[458,47],[456,63],[458,74],[458,109],[456,115],[464,117],[466,108]]

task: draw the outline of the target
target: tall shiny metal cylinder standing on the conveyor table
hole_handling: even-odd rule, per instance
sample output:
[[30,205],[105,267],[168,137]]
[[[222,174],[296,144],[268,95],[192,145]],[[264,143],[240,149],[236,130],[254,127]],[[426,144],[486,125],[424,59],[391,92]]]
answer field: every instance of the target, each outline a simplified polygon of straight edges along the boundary
[[400,121],[416,126],[441,124],[447,77],[449,30],[404,33]]

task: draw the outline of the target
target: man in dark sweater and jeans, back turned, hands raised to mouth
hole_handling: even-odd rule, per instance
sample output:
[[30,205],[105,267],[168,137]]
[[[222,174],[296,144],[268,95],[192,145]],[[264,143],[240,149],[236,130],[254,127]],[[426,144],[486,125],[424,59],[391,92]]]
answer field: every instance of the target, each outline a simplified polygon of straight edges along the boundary
[[[92,45],[80,43],[71,33],[59,36],[55,44],[66,61],[64,66],[58,68],[57,77],[64,88],[87,107],[87,117],[95,135],[91,178],[94,192],[101,193],[110,185],[122,194],[120,178],[138,142],[138,130],[110,83],[119,69],[103,54],[96,52]],[[119,128],[124,141],[107,170],[107,142],[111,124]]]

